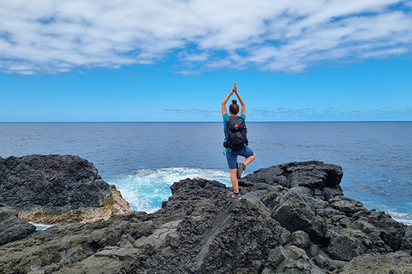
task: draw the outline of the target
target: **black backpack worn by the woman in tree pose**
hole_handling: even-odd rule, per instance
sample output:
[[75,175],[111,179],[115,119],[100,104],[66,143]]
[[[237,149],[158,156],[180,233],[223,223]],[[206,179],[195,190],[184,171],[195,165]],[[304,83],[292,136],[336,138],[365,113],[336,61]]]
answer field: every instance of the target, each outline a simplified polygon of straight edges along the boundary
[[227,138],[223,142],[223,147],[229,147],[231,150],[240,150],[249,145],[247,127],[242,117],[230,116],[226,121],[226,132]]

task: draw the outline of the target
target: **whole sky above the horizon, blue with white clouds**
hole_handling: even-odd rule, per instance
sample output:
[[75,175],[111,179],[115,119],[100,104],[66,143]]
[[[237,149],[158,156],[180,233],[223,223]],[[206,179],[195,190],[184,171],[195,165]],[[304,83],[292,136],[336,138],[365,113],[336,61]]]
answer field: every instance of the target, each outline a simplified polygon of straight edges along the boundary
[[0,122],[412,121],[412,1],[0,0]]

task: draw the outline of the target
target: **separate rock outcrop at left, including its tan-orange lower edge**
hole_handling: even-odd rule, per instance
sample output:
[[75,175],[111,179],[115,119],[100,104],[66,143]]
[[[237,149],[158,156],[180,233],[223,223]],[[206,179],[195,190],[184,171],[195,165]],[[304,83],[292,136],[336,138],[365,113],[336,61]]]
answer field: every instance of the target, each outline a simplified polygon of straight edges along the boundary
[[0,201],[36,223],[108,219],[130,212],[93,164],[73,155],[0,157]]

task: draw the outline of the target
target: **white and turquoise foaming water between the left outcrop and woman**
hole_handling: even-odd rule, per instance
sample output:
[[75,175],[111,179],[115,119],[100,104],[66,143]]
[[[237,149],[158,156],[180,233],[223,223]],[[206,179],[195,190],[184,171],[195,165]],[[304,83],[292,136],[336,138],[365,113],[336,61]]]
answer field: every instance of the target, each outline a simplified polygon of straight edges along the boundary
[[155,212],[167,201],[172,192],[170,186],[181,179],[201,177],[231,186],[229,173],[214,169],[174,167],[165,169],[135,169],[119,175],[109,184],[115,184],[134,211]]

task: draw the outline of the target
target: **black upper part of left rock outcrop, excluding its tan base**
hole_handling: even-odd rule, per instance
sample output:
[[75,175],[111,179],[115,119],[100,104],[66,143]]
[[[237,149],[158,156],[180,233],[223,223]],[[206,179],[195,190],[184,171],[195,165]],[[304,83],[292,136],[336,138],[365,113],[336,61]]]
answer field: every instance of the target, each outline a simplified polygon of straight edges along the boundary
[[78,156],[0,158],[0,201],[17,210],[99,207],[109,193],[95,166]]

